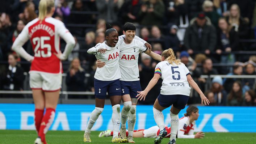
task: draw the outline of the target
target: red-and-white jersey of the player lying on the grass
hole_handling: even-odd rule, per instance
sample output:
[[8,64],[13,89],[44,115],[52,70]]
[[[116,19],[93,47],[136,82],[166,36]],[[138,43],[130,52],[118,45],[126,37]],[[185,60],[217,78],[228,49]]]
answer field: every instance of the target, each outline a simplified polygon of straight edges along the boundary
[[179,120],[179,128],[177,132],[178,138],[195,138],[194,129],[196,126],[196,121],[191,124],[189,122],[189,117],[182,117]]

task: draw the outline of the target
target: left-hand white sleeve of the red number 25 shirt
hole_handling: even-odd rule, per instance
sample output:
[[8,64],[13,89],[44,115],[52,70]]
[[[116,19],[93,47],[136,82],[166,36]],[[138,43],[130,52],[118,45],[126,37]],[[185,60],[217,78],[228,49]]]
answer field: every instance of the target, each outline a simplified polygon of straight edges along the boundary
[[31,61],[34,59],[34,56],[28,54],[28,52],[26,52],[22,47],[28,40],[29,40],[28,26],[25,26],[24,29],[21,31],[21,33],[18,35],[18,37],[15,39],[12,45],[12,50],[14,50],[22,58],[28,61]]

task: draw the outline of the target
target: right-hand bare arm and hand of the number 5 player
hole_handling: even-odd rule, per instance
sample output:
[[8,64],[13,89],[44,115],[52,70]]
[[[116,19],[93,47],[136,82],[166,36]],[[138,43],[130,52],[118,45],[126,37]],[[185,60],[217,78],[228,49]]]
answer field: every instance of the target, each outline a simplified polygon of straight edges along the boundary
[[210,101],[205,97],[202,90],[198,87],[197,83],[192,79],[191,75],[187,75],[187,80],[188,80],[189,85],[191,85],[192,88],[200,94],[201,103],[202,104],[204,103],[205,105],[206,104],[209,105]]

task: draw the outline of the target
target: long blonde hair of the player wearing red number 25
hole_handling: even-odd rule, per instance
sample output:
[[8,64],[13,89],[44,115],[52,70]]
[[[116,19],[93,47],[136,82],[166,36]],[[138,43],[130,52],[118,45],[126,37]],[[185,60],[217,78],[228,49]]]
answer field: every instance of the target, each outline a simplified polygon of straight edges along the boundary
[[54,0],[40,0],[39,2],[39,20],[45,19],[45,16],[51,12],[51,9],[54,7]]

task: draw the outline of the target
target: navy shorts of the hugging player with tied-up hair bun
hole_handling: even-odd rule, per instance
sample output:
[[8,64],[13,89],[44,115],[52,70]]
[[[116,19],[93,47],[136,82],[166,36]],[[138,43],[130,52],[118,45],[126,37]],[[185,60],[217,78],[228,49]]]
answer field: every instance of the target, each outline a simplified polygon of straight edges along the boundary
[[94,79],[95,98],[105,99],[106,93],[111,96],[121,96],[121,85],[120,81],[101,81]]

